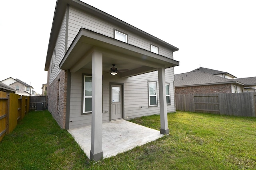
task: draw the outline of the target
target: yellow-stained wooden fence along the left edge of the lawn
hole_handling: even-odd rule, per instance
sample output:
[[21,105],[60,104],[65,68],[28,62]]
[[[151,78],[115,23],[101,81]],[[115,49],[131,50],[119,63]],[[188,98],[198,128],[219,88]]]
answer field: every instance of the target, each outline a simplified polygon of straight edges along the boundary
[[0,91],[0,141],[11,133],[18,121],[29,111],[29,96]]

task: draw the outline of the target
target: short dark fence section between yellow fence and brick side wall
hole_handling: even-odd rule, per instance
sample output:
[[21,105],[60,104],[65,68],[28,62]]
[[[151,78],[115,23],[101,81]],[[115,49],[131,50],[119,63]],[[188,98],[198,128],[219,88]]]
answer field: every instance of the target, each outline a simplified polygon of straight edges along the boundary
[[30,96],[30,110],[47,109],[47,96]]

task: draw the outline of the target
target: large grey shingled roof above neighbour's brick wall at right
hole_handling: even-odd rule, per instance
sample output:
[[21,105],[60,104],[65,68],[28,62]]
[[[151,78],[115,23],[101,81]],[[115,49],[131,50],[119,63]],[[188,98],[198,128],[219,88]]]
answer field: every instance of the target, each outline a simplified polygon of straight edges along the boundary
[[175,87],[185,87],[185,86],[202,86],[202,85],[213,85],[213,84],[240,84],[241,82],[235,79],[222,78],[220,76],[214,76],[201,71],[186,72],[182,74],[174,75],[174,86]]

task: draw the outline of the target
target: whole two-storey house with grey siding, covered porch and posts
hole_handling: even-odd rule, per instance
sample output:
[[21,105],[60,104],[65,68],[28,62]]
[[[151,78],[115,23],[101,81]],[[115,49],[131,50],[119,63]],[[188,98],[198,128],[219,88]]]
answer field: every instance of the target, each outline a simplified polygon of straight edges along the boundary
[[160,133],[168,134],[174,51],[84,2],[58,0],[45,63],[48,110],[62,128],[92,126],[94,160],[103,156],[103,122],[160,114]]

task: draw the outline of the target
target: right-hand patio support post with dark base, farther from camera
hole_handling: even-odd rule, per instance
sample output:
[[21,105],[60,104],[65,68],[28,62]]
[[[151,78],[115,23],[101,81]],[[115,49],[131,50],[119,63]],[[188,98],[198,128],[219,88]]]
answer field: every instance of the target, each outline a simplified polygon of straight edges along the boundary
[[168,120],[167,120],[167,104],[166,104],[166,88],[165,88],[165,69],[158,68],[158,82],[159,82],[159,106],[160,106],[160,133],[164,135],[169,134]]

